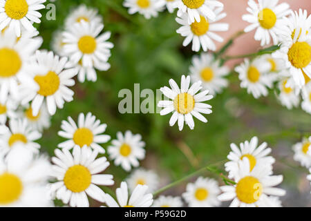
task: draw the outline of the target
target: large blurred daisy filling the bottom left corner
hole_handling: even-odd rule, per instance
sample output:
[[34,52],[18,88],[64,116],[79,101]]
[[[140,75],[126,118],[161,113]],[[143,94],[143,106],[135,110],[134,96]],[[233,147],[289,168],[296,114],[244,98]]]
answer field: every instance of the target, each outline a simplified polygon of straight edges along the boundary
[[49,171],[48,157],[34,156],[22,145],[0,157],[0,207],[53,206],[46,188]]

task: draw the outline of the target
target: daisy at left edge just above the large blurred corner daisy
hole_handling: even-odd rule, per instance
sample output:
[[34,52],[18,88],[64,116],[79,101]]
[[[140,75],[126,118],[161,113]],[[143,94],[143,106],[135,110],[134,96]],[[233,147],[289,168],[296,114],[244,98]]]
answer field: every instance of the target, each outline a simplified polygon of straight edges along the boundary
[[0,152],[8,153],[17,144],[24,144],[30,151],[39,152],[40,144],[35,141],[41,138],[41,133],[33,130],[26,119],[11,119],[9,127],[1,125],[0,137]]

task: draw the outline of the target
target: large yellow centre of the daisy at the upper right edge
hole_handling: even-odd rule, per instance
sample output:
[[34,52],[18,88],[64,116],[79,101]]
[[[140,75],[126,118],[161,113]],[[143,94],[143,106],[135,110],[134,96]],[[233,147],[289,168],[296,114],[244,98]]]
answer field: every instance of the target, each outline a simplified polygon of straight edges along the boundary
[[288,60],[295,68],[305,68],[311,62],[311,46],[307,42],[296,42],[288,50]]

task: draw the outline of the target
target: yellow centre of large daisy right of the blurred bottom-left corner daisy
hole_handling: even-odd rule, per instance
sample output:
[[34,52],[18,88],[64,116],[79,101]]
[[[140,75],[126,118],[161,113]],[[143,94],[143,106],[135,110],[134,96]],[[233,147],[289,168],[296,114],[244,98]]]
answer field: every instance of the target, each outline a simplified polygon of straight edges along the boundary
[[91,173],[85,166],[75,165],[68,168],[64,176],[64,184],[68,190],[80,193],[91,184]]

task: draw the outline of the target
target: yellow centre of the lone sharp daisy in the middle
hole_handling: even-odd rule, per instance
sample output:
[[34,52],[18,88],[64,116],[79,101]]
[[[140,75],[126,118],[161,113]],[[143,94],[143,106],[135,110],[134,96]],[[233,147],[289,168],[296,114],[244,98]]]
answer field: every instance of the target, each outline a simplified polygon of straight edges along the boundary
[[173,103],[175,111],[186,115],[187,113],[190,113],[194,110],[194,104],[196,104],[196,101],[189,93],[182,93],[175,97]]

